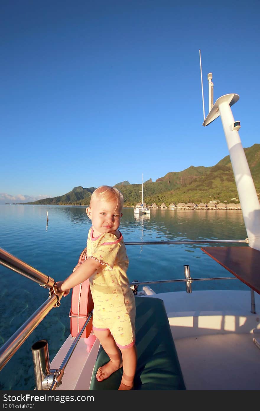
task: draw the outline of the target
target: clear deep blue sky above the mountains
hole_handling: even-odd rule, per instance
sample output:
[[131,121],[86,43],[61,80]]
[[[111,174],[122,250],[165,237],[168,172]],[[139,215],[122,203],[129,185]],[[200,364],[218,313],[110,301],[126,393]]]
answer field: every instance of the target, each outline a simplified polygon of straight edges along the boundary
[[[0,202],[155,181],[228,155],[214,102],[235,92],[259,143],[259,1],[0,2]],[[19,196],[20,195],[20,196]]]

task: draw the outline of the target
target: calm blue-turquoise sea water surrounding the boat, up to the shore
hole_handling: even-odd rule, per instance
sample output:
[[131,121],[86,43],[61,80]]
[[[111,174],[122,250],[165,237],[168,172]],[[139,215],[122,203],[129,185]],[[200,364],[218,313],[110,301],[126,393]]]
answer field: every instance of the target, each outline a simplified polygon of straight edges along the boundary
[[[49,221],[46,226],[46,211]],[[53,277],[67,277],[86,246],[91,222],[84,207],[44,205],[0,205],[0,247]],[[133,208],[123,210],[120,224],[124,241],[231,240],[246,238],[242,212],[203,210],[151,210],[136,216]],[[219,245],[219,244],[216,244]],[[233,245],[233,244],[232,244]],[[239,246],[241,246],[240,244]],[[230,273],[201,251],[202,245],[127,246],[130,281],[184,278],[183,266],[191,276],[231,277]],[[185,291],[184,283],[153,285],[156,292]],[[248,289],[239,280],[193,282],[201,289]],[[48,298],[48,290],[0,266],[0,345]],[[71,294],[53,309],[0,372],[1,390],[33,389],[31,346],[48,340],[53,359],[70,332]]]

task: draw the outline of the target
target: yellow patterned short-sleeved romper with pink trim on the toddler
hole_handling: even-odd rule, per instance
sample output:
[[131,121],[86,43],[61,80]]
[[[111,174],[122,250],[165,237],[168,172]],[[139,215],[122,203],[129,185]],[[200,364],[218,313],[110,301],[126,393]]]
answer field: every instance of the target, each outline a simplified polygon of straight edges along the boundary
[[91,227],[87,258],[102,264],[89,279],[94,302],[93,329],[110,330],[119,348],[129,348],[135,343],[136,305],[126,274],[129,260],[122,234],[120,238],[112,233],[94,238]]

